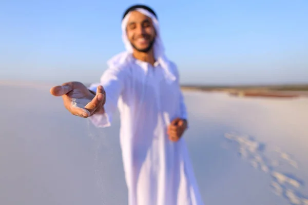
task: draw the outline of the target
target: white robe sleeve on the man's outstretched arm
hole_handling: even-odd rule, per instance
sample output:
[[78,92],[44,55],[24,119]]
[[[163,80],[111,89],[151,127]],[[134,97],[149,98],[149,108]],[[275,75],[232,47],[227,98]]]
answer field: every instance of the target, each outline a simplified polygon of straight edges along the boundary
[[91,84],[89,90],[96,92],[97,87],[102,85],[106,92],[104,114],[94,114],[89,117],[95,127],[110,127],[112,115],[117,110],[118,99],[124,87],[124,72],[122,69],[108,68],[101,76],[100,83]]

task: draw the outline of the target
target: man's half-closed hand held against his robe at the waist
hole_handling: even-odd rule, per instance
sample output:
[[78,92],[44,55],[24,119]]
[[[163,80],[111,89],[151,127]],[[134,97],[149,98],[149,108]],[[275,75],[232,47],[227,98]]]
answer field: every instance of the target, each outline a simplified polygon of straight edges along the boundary
[[178,141],[184,134],[187,128],[187,121],[185,119],[176,118],[171,121],[168,126],[167,134],[171,141]]

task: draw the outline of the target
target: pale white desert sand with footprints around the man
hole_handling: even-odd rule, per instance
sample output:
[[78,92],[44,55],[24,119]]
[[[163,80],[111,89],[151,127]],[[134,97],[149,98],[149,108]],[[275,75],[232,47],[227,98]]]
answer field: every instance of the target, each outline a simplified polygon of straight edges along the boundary
[[[118,116],[96,129],[52,85],[0,84],[0,204],[127,204]],[[308,99],[185,97],[205,204],[308,204]]]

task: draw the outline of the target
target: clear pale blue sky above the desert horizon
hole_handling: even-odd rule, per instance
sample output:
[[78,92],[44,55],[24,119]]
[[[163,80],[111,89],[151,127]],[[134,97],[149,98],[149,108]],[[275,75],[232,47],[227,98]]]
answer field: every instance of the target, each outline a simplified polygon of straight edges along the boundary
[[0,79],[98,81],[136,3],[157,12],[183,84],[308,83],[306,0],[4,0]]

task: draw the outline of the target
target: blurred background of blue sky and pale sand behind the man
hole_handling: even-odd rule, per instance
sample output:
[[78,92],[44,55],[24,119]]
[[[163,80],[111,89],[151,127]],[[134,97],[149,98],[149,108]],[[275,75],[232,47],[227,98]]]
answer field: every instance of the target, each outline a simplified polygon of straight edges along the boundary
[[0,1],[0,204],[127,204],[119,113],[97,129],[49,89],[98,82],[123,12],[158,14],[205,204],[308,204],[308,1]]

